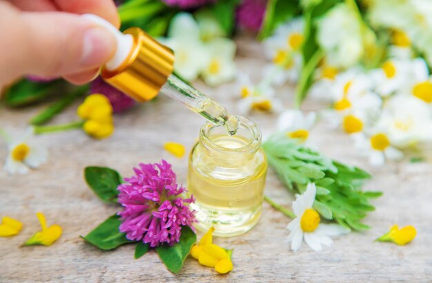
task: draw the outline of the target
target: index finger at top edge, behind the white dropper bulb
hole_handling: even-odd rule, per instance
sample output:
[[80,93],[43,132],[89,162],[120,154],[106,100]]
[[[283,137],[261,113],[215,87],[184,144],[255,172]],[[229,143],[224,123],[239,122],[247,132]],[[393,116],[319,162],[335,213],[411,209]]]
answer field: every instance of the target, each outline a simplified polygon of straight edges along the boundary
[[115,27],[120,27],[120,18],[112,0],[52,0],[59,10],[75,14],[97,14]]

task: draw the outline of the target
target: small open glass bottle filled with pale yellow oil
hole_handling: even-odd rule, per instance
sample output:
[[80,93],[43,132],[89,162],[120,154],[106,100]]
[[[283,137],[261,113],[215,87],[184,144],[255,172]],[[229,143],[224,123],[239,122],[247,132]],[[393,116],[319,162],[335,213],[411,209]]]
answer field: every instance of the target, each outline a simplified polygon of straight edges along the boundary
[[237,134],[206,122],[190,153],[188,191],[196,198],[197,229],[215,227],[215,235],[240,235],[257,224],[262,212],[267,160],[262,135],[248,118],[239,119]]

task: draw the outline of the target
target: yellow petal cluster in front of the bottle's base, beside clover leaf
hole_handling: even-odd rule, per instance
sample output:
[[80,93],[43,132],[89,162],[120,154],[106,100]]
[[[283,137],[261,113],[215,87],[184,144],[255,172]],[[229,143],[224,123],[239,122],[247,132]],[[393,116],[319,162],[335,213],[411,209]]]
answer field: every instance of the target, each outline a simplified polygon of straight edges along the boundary
[[192,247],[190,255],[195,260],[198,260],[200,264],[215,267],[215,271],[225,274],[233,270],[232,251],[226,251],[212,243],[214,231],[215,228],[213,227],[208,229],[207,233],[199,240],[199,243]]

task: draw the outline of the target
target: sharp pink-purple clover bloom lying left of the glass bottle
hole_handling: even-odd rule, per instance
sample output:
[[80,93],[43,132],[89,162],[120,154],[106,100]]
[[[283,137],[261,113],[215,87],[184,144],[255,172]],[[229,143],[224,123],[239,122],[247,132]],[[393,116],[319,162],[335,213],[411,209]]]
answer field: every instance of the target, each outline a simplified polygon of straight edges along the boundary
[[186,189],[177,185],[171,165],[165,160],[155,164],[139,164],[135,176],[119,185],[119,203],[124,207],[120,231],[132,241],[142,241],[157,247],[179,242],[181,227],[195,222],[195,211],[188,204],[193,196],[183,198]]

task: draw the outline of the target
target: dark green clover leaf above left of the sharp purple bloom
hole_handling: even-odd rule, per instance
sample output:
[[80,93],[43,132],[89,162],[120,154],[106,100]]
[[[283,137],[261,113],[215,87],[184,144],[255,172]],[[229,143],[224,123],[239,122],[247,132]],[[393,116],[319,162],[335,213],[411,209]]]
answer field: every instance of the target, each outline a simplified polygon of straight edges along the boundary
[[117,203],[119,191],[117,187],[121,184],[120,174],[107,167],[86,167],[84,176],[88,186],[97,196],[108,203]]

